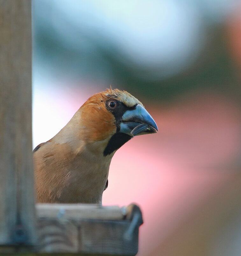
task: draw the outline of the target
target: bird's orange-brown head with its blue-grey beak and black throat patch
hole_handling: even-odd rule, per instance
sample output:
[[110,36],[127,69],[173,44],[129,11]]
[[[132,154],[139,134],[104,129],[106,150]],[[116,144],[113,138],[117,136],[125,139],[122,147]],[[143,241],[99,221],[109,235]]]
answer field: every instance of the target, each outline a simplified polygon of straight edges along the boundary
[[103,155],[109,155],[134,136],[156,133],[157,125],[143,104],[119,89],[91,96],[78,111],[85,139],[105,141]]

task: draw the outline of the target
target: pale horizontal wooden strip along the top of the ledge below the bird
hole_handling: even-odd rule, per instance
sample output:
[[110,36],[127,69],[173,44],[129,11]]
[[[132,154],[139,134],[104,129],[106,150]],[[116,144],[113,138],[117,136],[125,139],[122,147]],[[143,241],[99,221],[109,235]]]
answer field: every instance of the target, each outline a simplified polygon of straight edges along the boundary
[[122,220],[124,208],[86,204],[36,204],[39,218]]

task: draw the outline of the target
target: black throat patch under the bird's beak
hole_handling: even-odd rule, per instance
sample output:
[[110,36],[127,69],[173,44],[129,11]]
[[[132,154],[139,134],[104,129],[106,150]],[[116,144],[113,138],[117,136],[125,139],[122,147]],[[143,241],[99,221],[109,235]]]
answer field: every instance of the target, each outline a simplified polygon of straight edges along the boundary
[[110,155],[112,152],[119,149],[122,145],[124,145],[131,138],[133,138],[133,137],[128,134],[122,133],[122,132],[115,133],[110,138],[110,140],[103,152],[103,155],[104,156]]

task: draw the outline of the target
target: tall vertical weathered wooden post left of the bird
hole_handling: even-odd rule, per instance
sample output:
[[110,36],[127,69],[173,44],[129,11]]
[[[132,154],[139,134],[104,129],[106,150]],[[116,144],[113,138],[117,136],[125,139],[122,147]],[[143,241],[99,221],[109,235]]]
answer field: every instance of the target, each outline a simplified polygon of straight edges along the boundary
[[0,244],[36,241],[31,0],[0,0]]

